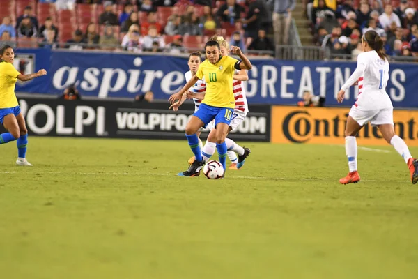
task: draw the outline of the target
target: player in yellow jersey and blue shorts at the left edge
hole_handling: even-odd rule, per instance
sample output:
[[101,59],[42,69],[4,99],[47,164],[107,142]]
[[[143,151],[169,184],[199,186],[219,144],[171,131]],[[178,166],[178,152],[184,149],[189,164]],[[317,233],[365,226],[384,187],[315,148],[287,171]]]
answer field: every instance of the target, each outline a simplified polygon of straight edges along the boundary
[[15,96],[15,85],[17,80],[26,82],[35,77],[46,75],[46,70],[39,70],[38,73],[22,75],[13,66],[15,53],[10,45],[3,45],[0,48],[0,123],[8,130],[8,133],[0,135],[0,144],[6,144],[17,140],[17,165],[31,166],[26,160],[26,146],[28,144],[28,130],[24,117],[20,112],[20,106]]

